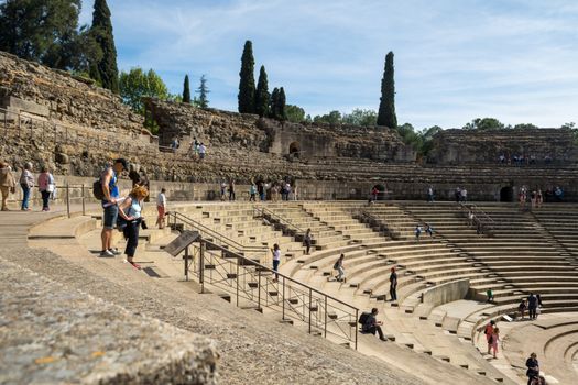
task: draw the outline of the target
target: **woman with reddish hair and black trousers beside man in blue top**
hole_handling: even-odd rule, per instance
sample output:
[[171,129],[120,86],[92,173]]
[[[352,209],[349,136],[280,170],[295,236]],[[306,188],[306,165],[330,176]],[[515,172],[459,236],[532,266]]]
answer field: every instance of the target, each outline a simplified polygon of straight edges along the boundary
[[142,201],[149,195],[149,190],[144,186],[134,187],[127,199],[124,199],[118,206],[118,215],[123,220],[122,233],[127,240],[127,248],[124,254],[127,254],[127,262],[135,268],[141,268],[134,263],[133,257],[139,245],[139,229],[141,228],[142,218]]

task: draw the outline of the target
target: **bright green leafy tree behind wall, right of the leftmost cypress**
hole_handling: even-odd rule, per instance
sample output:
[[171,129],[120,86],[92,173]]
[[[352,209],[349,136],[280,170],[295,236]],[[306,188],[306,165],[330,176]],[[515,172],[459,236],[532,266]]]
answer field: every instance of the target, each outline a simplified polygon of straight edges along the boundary
[[145,113],[143,97],[168,100],[170,94],[163,79],[153,69],[146,73],[140,67],[131,68],[129,73],[122,72],[119,76],[120,97],[123,102],[135,111],[145,117],[144,125],[151,131],[155,131],[156,125],[153,119]]

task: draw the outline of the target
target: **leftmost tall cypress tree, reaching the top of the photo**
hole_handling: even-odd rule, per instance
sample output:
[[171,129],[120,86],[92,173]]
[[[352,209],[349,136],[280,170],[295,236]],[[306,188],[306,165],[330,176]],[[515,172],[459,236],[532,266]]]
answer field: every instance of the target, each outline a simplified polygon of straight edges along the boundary
[[102,58],[97,63],[97,68],[102,80],[102,87],[119,94],[119,70],[117,67],[117,48],[112,35],[112,22],[107,0],[95,0],[92,12],[92,32],[95,40],[102,51]]

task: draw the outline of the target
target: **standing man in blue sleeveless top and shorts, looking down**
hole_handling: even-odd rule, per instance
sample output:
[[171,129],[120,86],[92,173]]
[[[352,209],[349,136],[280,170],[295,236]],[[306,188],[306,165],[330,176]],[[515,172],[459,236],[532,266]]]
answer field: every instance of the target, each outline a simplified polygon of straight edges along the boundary
[[100,239],[102,241],[102,250],[100,256],[114,256],[118,254],[111,248],[112,230],[117,226],[117,218],[119,216],[118,199],[120,198],[120,190],[118,186],[119,176],[122,170],[128,168],[124,158],[118,158],[111,167],[105,169],[100,176],[100,185],[102,187],[103,199],[101,201],[102,215],[102,232]]

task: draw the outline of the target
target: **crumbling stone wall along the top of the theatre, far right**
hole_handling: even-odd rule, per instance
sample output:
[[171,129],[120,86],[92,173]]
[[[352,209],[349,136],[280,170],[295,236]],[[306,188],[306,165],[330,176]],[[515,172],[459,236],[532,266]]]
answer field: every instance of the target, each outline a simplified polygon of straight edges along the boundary
[[497,163],[499,156],[524,155],[557,163],[578,161],[578,147],[570,130],[446,130],[434,138],[429,161],[437,164]]

